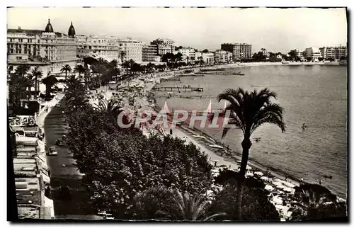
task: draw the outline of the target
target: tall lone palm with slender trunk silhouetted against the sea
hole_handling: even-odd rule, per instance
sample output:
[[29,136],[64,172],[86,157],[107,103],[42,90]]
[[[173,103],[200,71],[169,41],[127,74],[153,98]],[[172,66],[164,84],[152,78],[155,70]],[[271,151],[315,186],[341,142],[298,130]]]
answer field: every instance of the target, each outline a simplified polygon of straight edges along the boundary
[[[283,108],[276,103],[270,102],[270,98],[276,98],[277,94],[270,91],[268,88],[261,91],[254,90],[253,92],[244,91],[243,89],[227,89],[217,96],[218,101],[229,101],[229,105],[223,111],[230,112],[229,124],[235,125],[242,130],[244,140],[242,145],[242,159],[241,168],[239,171],[239,181],[237,184],[238,198],[237,201],[239,209],[239,219],[241,220],[241,199],[244,175],[246,173],[246,166],[249,160],[249,149],[251,148],[251,135],[261,125],[274,124],[280,127],[282,132],[285,132],[285,123],[283,122],[282,113]],[[213,115],[209,116],[212,120]],[[224,127],[222,131],[222,138],[227,135],[230,128]]]

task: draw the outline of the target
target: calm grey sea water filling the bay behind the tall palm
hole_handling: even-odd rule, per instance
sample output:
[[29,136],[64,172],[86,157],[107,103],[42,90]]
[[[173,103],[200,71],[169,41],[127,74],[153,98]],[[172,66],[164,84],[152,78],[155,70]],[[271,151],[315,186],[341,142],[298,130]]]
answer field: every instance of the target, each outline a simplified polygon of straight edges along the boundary
[[[182,77],[180,81],[165,81],[160,86],[200,86],[205,91],[174,92],[168,98],[169,108],[196,108],[205,110],[210,98],[212,109],[222,108],[217,103],[218,93],[227,88],[241,87],[253,90],[268,87],[278,93],[275,101],[285,108],[287,130],[282,133],[273,125],[263,125],[253,132],[254,142],[250,157],[265,166],[280,169],[304,181],[319,183],[341,197],[347,190],[347,69],[344,66],[262,66],[227,69],[245,76]],[[166,93],[158,92],[164,96]],[[179,96],[191,96],[180,98]],[[198,97],[196,97],[198,96]],[[203,96],[200,98],[200,96]],[[162,107],[165,98],[157,99]],[[302,123],[307,125],[302,130]],[[219,130],[207,134],[221,140]],[[231,149],[241,152],[242,134],[232,130],[223,139]],[[332,179],[324,175],[333,176]]]

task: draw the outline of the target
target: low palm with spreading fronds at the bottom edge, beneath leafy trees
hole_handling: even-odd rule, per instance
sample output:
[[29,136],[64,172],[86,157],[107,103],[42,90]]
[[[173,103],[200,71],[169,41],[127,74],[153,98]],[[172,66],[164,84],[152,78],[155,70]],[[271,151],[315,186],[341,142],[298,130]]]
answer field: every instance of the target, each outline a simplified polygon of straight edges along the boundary
[[182,194],[178,190],[173,190],[172,193],[173,198],[171,204],[168,205],[169,210],[157,212],[169,220],[210,221],[215,217],[225,215],[225,213],[217,213],[207,216],[210,202],[204,195],[194,195],[188,192]]

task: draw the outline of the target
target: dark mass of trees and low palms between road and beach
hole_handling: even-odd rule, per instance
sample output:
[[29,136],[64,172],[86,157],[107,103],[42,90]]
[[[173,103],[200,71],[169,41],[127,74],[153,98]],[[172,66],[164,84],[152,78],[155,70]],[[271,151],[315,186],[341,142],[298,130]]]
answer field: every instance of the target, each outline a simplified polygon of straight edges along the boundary
[[194,144],[120,129],[116,120],[124,110],[118,103],[93,108],[78,79],[68,87],[68,145],[98,209],[130,220],[279,220],[264,185],[244,181],[239,204],[238,186],[224,178],[219,183],[229,187],[215,191],[210,202],[205,193],[212,189],[212,166]]

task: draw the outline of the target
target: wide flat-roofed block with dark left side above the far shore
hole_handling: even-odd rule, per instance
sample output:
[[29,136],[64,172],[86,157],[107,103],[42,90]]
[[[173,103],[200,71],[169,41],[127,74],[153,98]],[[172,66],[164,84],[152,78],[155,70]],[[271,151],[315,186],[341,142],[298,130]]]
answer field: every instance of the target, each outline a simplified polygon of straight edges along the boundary
[[252,45],[246,43],[223,43],[221,50],[232,52],[233,61],[252,57]]

